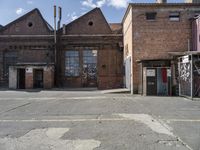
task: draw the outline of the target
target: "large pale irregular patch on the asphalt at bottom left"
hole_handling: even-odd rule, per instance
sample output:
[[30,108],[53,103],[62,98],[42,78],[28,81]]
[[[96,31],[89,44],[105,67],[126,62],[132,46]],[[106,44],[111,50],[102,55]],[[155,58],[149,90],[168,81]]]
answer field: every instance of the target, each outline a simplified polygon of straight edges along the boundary
[[19,138],[0,139],[3,150],[93,150],[100,146],[96,140],[64,140],[61,137],[68,128],[47,128],[31,130]]

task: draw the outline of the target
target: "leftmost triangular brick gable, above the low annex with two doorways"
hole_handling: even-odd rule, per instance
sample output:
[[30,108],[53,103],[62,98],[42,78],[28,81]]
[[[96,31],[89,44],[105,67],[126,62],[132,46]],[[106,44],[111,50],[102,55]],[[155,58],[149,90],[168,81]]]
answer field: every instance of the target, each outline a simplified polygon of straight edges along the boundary
[[0,30],[3,35],[48,35],[51,32],[52,27],[44,20],[38,9],[30,11]]

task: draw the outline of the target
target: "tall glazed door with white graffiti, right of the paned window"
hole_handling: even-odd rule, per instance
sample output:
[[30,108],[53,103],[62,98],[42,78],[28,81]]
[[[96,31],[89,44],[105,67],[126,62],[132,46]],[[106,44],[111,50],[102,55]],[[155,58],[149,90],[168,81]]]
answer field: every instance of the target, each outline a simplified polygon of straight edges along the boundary
[[97,50],[83,51],[83,78],[84,87],[97,87]]

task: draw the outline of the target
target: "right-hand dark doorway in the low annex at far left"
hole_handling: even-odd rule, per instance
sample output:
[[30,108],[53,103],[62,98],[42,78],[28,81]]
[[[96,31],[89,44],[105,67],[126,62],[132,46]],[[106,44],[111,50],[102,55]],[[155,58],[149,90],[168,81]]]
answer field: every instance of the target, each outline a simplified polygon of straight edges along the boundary
[[42,69],[34,70],[33,87],[43,88],[43,70]]

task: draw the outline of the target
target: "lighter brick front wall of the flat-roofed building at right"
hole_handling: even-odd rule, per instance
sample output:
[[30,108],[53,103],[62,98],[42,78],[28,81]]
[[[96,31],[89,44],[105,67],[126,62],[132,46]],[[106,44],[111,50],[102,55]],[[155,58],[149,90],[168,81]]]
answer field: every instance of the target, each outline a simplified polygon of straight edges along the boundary
[[[130,24],[127,20],[132,14],[132,79],[135,93],[138,92],[140,80],[137,61],[171,59],[168,52],[187,51],[188,44],[190,50],[192,40],[190,19],[200,12],[199,6],[199,4],[130,4],[123,26]],[[130,9],[132,11],[129,11]],[[148,12],[156,13],[155,20],[146,19]],[[180,13],[179,21],[170,20],[172,12]],[[124,31],[124,43],[127,43],[125,37],[128,35]]]

